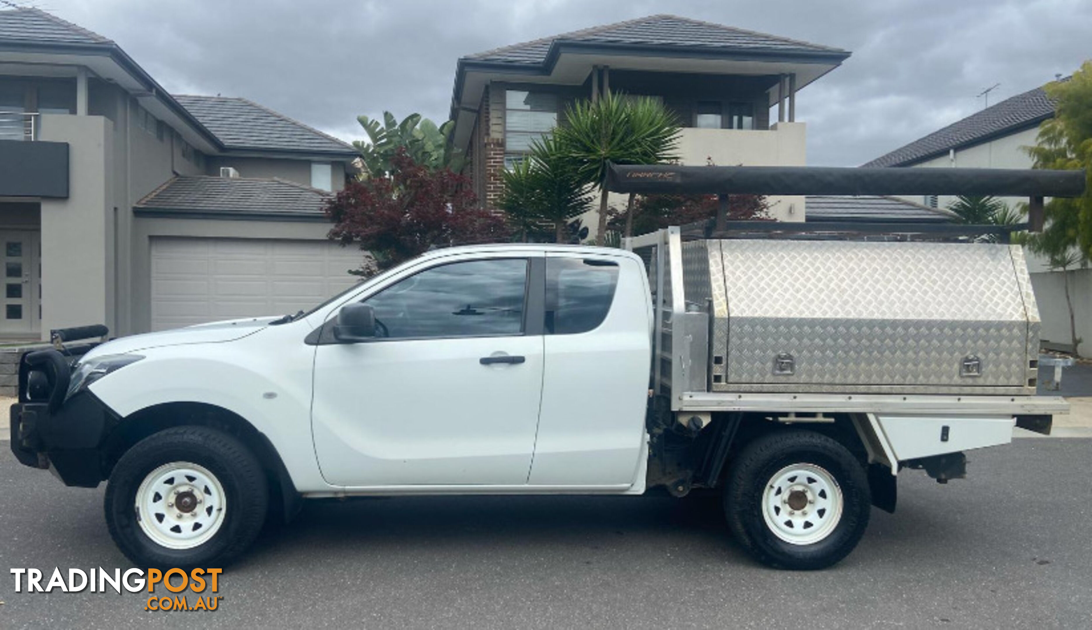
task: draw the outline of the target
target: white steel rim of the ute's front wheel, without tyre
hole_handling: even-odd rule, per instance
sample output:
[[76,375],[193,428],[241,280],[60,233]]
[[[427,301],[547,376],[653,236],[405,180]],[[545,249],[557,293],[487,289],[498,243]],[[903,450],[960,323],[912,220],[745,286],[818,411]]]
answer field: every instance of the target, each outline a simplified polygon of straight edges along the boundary
[[168,549],[192,549],[216,535],[227,511],[224,487],[207,468],[170,462],[149,473],[136,490],[140,528]]

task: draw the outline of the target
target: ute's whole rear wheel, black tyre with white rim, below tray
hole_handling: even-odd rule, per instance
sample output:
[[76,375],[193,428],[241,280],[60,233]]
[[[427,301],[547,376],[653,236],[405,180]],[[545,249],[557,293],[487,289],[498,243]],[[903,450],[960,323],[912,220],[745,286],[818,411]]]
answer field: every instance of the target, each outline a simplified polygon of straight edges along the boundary
[[871,511],[864,465],[820,433],[781,431],[735,459],[724,491],[733,536],[760,562],[823,569],[845,558]]

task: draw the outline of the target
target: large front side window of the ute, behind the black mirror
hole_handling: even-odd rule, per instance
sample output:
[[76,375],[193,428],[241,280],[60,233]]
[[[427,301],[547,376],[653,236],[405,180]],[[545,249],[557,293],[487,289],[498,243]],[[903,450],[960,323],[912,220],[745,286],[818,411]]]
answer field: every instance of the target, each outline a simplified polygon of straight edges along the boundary
[[410,276],[364,300],[378,336],[517,335],[523,332],[525,259],[455,262]]

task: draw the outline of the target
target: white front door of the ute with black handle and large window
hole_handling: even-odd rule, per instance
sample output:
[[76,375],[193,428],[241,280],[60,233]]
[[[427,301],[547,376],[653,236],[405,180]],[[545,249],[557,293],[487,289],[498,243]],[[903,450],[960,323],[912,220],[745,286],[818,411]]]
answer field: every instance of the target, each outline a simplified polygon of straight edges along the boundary
[[542,255],[437,262],[363,299],[378,336],[320,344],[314,357],[312,430],[328,483],[526,484],[542,396],[541,265]]

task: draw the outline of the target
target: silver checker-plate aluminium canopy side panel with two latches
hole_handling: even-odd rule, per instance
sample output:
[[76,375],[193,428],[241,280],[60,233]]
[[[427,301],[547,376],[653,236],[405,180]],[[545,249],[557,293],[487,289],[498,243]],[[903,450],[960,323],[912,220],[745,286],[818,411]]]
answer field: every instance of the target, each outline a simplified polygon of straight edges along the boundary
[[727,369],[714,391],[1028,393],[1009,246],[725,240],[721,253]]

